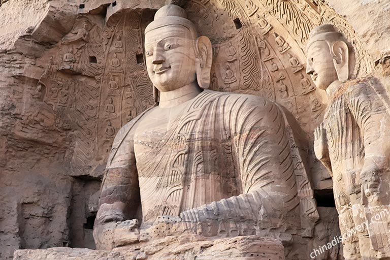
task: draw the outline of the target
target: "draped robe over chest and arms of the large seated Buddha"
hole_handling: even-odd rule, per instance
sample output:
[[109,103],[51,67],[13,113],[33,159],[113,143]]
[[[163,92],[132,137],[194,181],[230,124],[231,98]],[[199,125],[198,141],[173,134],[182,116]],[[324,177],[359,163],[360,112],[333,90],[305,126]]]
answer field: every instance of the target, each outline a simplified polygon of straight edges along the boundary
[[131,204],[138,180],[143,225],[167,215],[284,221],[310,186],[297,188],[287,136],[280,107],[253,95],[204,90],[173,109],[153,107],[117,134],[100,204]]

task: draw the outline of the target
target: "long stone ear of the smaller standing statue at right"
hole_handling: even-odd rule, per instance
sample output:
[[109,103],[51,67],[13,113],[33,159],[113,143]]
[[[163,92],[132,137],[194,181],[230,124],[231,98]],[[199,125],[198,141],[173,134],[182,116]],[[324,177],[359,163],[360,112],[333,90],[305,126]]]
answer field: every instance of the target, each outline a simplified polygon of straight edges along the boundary
[[333,64],[335,65],[339,81],[348,80],[349,77],[349,51],[348,45],[343,41],[337,41],[332,45],[334,54]]

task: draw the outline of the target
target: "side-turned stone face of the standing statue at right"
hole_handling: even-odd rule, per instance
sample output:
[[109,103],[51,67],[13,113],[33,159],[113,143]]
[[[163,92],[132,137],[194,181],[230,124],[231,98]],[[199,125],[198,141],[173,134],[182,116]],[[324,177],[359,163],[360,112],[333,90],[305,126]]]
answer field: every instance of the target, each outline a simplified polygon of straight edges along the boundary
[[327,89],[332,82],[338,80],[333,57],[326,41],[316,41],[309,46],[306,73],[319,89]]

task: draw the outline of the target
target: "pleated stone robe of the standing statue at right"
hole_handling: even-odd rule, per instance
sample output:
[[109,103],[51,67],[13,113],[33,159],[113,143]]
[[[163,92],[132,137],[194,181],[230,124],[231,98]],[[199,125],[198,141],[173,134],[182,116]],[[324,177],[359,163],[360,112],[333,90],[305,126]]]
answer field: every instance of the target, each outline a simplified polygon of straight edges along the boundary
[[[386,95],[379,94],[381,90],[377,87],[374,79],[345,83],[330,96],[331,102],[323,120],[340,230],[343,235],[349,230],[358,230],[357,234],[345,235],[343,239],[344,256],[347,257],[360,255],[356,247],[360,247],[362,254],[370,253],[374,248],[386,250],[385,254],[390,256],[387,249],[390,216],[389,213],[380,214],[390,212],[390,115],[384,100]],[[372,163],[377,172],[365,169]],[[369,203],[361,192],[365,181],[370,185],[380,183],[379,204]],[[375,216],[379,216],[380,221],[373,221]],[[374,258],[370,254],[362,256]]]

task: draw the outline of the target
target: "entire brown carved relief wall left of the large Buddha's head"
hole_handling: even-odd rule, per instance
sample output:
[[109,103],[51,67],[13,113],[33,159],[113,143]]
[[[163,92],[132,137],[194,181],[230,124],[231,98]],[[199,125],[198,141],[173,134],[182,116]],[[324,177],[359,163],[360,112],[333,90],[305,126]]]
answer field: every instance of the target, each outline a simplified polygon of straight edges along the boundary
[[[80,16],[46,55],[43,101],[54,127],[74,131],[68,153],[73,174],[105,161],[118,129],[153,104],[142,54],[141,13]],[[55,54],[54,54],[55,53]],[[36,94],[37,95],[37,94]]]

